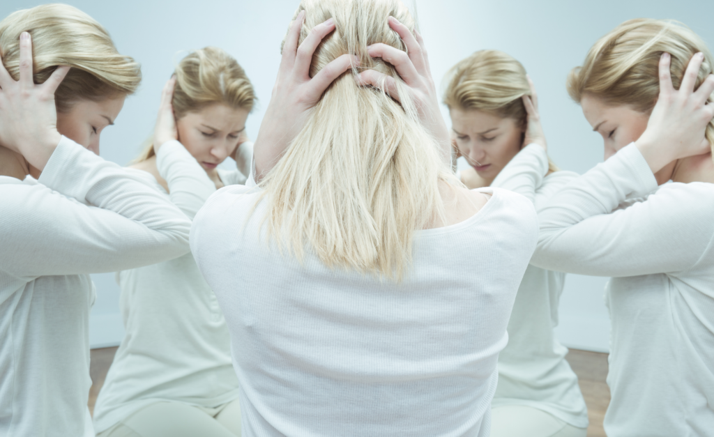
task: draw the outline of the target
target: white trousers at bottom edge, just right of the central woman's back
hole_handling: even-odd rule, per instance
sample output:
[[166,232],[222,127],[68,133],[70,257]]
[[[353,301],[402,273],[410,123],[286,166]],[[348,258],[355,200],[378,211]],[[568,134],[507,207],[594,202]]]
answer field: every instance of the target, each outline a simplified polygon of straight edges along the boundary
[[528,406],[491,409],[491,437],[585,437],[587,428],[576,428],[559,418]]

